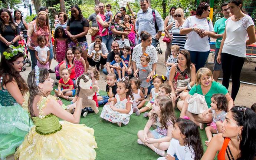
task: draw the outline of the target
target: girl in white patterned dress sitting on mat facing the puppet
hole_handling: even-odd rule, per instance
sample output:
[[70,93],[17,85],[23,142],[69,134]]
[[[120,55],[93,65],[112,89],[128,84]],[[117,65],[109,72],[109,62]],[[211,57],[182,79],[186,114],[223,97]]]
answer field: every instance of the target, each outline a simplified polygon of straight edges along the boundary
[[131,84],[128,78],[123,77],[117,83],[117,94],[114,101],[106,104],[101,112],[101,118],[108,120],[112,123],[117,123],[121,127],[122,123],[125,125],[129,123],[132,114],[133,95]]

